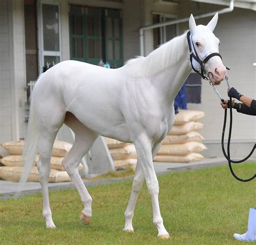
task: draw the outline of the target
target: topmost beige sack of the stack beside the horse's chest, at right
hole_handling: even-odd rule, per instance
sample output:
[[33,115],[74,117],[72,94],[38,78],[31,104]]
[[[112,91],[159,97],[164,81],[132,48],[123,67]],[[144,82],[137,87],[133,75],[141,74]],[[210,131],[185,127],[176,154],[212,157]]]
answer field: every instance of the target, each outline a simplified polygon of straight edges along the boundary
[[179,110],[175,115],[174,125],[182,125],[187,122],[197,122],[205,116],[203,111],[198,110]]

